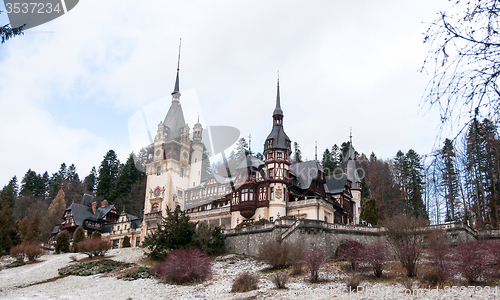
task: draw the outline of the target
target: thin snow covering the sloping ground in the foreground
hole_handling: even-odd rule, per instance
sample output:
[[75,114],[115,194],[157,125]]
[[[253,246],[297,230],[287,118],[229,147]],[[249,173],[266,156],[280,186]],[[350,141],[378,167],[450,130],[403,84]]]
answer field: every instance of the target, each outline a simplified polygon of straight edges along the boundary
[[[500,299],[500,290],[486,292],[483,288],[466,291],[419,290],[409,294],[399,283],[362,283],[364,291],[350,293],[345,277],[338,269],[320,273],[324,282],[311,284],[307,274],[290,277],[287,289],[278,290],[271,279],[273,272],[259,272],[266,267],[250,257],[225,255],[214,262],[212,278],[194,285],[178,286],[158,283],[154,279],[124,281],[109,275],[67,276],[53,281],[57,270],[72,262],[75,254],[45,255],[40,263],[0,271],[0,299]],[[111,259],[139,262],[142,249],[111,250]],[[78,254],[77,258],[85,255]],[[3,262],[3,264],[9,261]],[[0,266],[2,261],[0,261]],[[244,271],[259,276],[259,289],[247,293],[231,293],[234,279]]]

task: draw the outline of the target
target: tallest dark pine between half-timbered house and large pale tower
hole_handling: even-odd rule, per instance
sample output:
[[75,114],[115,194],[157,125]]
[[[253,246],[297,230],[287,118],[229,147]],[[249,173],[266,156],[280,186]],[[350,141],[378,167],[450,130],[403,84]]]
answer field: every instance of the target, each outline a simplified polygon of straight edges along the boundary
[[116,183],[120,168],[115,151],[109,150],[104,156],[101,166],[99,167],[99,177],[97,178],[96,195],[104,199],[113,200],[113,188]]

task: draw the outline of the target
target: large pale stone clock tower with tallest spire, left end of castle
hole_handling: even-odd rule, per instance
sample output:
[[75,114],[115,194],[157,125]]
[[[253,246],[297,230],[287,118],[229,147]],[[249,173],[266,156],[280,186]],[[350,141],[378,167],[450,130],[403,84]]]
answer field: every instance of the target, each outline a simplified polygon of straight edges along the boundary
[[155,231],[166,216],[167,207],[184,208],[185,190],[200,184],[203,154],[202,126],[194,125],[193,140],[184,120],[179,92],[179,61],[172,102],[163,122],[158,124],[154,142],[146,147],[146,195],[141,241]]

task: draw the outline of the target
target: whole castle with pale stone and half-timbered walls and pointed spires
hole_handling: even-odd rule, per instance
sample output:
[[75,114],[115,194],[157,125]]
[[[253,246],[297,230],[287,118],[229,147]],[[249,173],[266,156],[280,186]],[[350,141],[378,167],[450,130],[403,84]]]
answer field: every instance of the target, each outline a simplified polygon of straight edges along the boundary
[[178,68],[170,108],[158,124],[154,142],[146,147],[141,240],[158,228],[167,208],[177,205],[192,221],[227,229],[284,217],[359,224],[361,181],[352,142],[344,174],[325,174],[317,160],[292,163],[279,80],[264,161],[247,155],[228,176],[213,174],[203,181],[203,128],[198,121],[190,132],[180,96]]

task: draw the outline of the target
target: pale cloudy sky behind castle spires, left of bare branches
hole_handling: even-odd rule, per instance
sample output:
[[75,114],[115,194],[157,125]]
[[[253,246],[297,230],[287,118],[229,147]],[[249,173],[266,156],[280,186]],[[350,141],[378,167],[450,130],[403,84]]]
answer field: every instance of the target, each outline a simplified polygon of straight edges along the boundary
[[450,5],[80,1],[0,45],[0,187],[29,168],[52,174],[62,162],[83,179],[109,149],[124,162],[139,140],[134,116],[143,109],[154,135],[168,110],[179,38],[191,128],[200,114],[204,125],[251,133],[252,150],[261,152],[279,70],[285,131],[305,157],[314,158],[315,141],[320,158],[347,141],[350,127],[360,153],[427,154],[439,118],[420,106],[430,78],[419,72],[423,32]]

